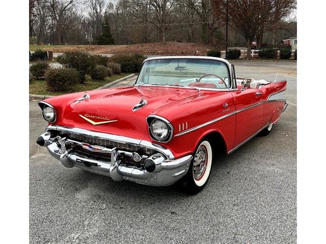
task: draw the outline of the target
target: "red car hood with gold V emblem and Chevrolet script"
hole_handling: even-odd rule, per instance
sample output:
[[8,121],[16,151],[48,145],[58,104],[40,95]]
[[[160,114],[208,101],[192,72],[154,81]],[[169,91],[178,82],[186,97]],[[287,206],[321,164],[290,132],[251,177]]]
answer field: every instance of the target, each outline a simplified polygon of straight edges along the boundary
[[[70,94],[45,101],[58,110],[56,125],[143,139],[148,130],[146,118],[158,108],[197,96],[195,89],[178,87],[122,87],[94,90],[90,99],[75,101],[83,93]],[[145,99],[147,104],[132,108]]]

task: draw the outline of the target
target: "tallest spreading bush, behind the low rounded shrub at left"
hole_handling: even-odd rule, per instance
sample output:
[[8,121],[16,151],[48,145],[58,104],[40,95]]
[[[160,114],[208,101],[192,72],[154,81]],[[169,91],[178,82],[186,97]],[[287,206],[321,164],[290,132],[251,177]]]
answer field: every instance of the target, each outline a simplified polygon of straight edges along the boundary
[[57,57],[58,63],[65,68],[73,68],[79,73],[79,82],[85,82],[87,71],[95,67],[94,59],[86,52],[69,51]]

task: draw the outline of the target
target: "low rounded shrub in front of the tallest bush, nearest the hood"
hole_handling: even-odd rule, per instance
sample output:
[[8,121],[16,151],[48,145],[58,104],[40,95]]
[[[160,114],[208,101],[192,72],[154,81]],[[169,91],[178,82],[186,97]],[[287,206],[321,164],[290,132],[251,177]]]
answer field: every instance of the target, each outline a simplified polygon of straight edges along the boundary
[[48,89],[57,92],[65,91],[78,82],[78,72],[71,68],[48,69],[45,79]]

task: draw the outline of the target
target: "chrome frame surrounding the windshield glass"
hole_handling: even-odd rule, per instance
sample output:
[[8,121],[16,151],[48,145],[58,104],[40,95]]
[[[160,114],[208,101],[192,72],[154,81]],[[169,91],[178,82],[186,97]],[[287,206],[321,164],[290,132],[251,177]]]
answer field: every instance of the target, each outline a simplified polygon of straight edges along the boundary
[[150,58],[146,58],[142,64],[142,68],[144,64],[147,61],[150,60],[158,60],[158,59],[210,59],[210,60],[217,60],[220,61],[222,63],[224,63],[227,66],[228,69],[228,74],[229,74],[229,79],[231,80],[231,87],[230,88],[204,88],[204,87],[196,87],[196,86],[177,86],[177,85],[166,85],[166,84],[161,84],[161,85],[152,85],[152,84],[137,84],[140,72],[137,76],[137,79],[135,81],[135,83],[133,84],[133,86],[158,86],[158,87],[174,87],[174,88],[186,88],[186,89],[193,89],[196,88],[198,90],[218,90],[218,91],[223,91],[223,92],[227,92],[230,90],[235,90],[237,89],[236,84],[235,84],[235,79],[234,79],[234,75],[232,72],[232,66],[231,64],[228,62],[228,60],[224,59],[224,58],[220,58],[220,57],[208,57],[208,56],[161,56],[161,57],[150,57]]

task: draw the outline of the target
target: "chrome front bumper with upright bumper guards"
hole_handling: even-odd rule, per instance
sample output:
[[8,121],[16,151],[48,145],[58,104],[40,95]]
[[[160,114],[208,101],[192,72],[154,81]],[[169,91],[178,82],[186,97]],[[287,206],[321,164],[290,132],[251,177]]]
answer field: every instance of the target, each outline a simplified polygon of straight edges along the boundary
[[41,135],[44,146],[47,147],[50,155],[60,160],[65,167],[78,167],[92,173],[110,176],[115,181],[129,180],[150,186],[169,186],[187,173],[193,159],[192,155],[179,159],[164,157],[161,161],[155,162],[155,170],[149,172],[144,167],[126,164],[119,159],[119,155],[132,154],[130,152],[106,148],[111,153],[111,160],[99,160],[72,148],[67,149],[69,144],[82,144],[82,142],[60,137],[51,138],[49,134],[46,132]]

